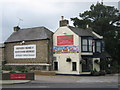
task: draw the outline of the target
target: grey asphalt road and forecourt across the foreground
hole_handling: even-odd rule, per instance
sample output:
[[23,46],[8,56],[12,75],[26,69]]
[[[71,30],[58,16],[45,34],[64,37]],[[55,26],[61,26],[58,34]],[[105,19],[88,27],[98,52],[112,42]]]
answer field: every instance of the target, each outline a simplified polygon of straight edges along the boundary
[[118,88],[118,75],[106,76],[36,76],[25,84],[2,85],[2,88]]

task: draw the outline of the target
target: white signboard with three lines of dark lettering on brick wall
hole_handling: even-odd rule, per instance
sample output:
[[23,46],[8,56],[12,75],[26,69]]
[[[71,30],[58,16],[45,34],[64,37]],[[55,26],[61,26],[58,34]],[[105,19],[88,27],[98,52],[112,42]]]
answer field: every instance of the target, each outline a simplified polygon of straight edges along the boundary
[[14,58],[36,58],[36,45],[14,46]]

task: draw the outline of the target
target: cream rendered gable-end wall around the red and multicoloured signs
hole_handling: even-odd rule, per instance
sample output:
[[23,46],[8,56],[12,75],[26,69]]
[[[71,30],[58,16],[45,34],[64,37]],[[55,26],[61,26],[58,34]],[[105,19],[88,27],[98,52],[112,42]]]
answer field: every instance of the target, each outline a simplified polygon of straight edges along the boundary
[[[74,45],[79,46],[80,38],[72,32],[67,26],[60,27],[53,35],[53,46],[57,46],[57,36],[73,35]],[[70,46],[70,45],[67,45]],[[80,46],[79,46],[80,47]],[[60,74],[79,74],[80,72],[80,54],[79,53],[60,53],[54,54],[56,61],[58,61],[58,71]],[[71,62],[66,62],[67,58],[71,58]],[[72,71],[72,62],[77,63],[77,71]]]

